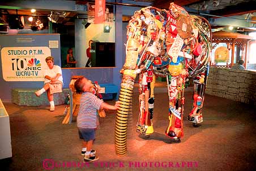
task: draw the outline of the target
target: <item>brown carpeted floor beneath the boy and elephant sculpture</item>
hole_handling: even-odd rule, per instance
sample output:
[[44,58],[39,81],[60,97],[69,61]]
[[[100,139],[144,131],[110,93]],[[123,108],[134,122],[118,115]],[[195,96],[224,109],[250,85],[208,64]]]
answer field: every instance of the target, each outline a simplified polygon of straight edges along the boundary
[[[163,84],[155,88],[155,132],[150,138],[138,136],[135,131],[135,91],[127,155],[115,154],[116,111],[106,111],[93,145],[100,159],[84,165],[75,120],[71,125],[61,124],[65,105],[49,112],[49,107],[4,103],[10,115],[12,158],[0,160],[1,170],[256,170],[255,108],[206,94],[204,122],[194,128],[186,121],[192,106],[189,88],[185,93],[184,137],[176,144],[164,134],[168,126],[165,90]],[[112,100],[106,102],[114,104]]]

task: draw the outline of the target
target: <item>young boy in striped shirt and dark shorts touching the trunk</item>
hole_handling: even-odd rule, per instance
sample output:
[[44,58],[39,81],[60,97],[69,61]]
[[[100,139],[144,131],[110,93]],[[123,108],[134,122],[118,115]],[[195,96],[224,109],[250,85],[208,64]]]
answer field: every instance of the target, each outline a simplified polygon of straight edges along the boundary
[[80,107],[78,117],[76,119],[78,124],[79,136],[83,138],[82,155],[84,161],[96,160],[96,151],[92,150],[92,144],[95,140],[95,129],[97,122],[97,110],[99,109],[113,109],[116,110],[119,102],[114,106],[104,103],[91,92],[92,82],[85,77],[78,78],[75,81],[76,93],[82,93],[80,99]]

